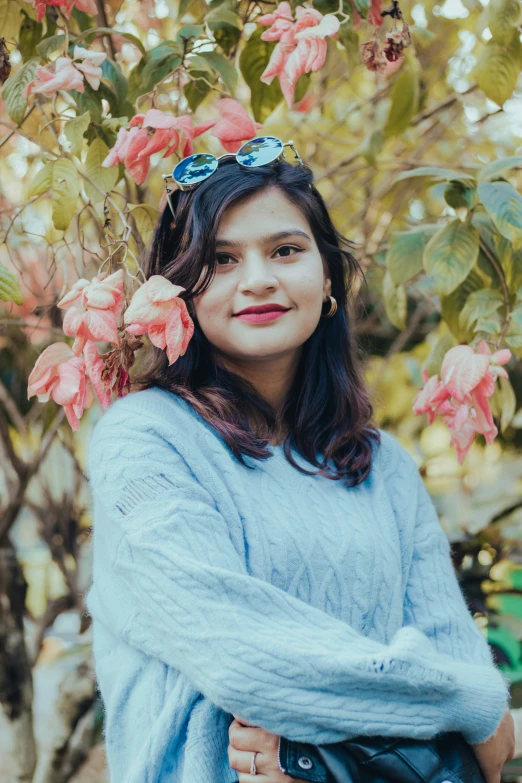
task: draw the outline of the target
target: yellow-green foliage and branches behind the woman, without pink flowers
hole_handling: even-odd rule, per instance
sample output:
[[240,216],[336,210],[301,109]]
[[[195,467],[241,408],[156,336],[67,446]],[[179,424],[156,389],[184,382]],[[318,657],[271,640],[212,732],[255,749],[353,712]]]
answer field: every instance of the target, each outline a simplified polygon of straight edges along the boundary
[[[361,61],[360,44],[382,31],[368,23],[368,3],[354,3],[355,22],[348,0],[313,3],[349,19],[329,40],[324,67],[301,77],[289,109],[277,83],[259,81],[271,46],[255,18],[274,3],[107,0],[96,3],[96,16],[76,8],[66,22],[49,6],[38,22],[25,0],[0,0],[12,65],[0,102],[5,779],[106,779],[83,604],[91,569],[85,457],[101,411],[86,411],[73,433],[54,403],[27,399],[28,375],[41,351],[64,339],[59,298],[95,275],[108,251],[136,274],[164,206],[161,175],[177,158],[153,157],[140,185],[121,165],[102,168],[119,128],[151,107],[205,121],[223,95],[240,101],[263,133],[294,140],[338,228],[356,243],[366,277],[350,306],[377,423],[415,457],[470,608],[512,680],[514,712],[522,706],[520,2],[401,0],[412,45],[383,71]],[[102,87],[24,101],[22,69],[52,60],[65,26],[67,44],[107,53]],[[208,134],[195,149],[222,154]],[[56,160],[78,172],[65,200],[42,184]],[[466,235],[449,236],[455,228]],[[481,338],[509,346],[514,358],[493,397],[498,438],[489,447],[477,438],[460,465],[446,426],[414,416],[412,401],[423,369],[439,372],[449,348]],[[90,769],[80,769],[87,756]],[[515,775],[510,765],[505,779]]]

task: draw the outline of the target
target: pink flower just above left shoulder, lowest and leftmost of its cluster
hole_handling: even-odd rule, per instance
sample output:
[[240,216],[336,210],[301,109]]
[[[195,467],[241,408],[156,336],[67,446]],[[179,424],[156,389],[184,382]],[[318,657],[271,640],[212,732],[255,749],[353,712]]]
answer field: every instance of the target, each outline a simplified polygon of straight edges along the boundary
[[73,430],[80,427],[80,418],[94,396],[85,377],[85,361],[75,356],[66,343],[54,343],[38,357],[27,387],[27,397],[36,395],[40,402],[53,399],[62,405]]

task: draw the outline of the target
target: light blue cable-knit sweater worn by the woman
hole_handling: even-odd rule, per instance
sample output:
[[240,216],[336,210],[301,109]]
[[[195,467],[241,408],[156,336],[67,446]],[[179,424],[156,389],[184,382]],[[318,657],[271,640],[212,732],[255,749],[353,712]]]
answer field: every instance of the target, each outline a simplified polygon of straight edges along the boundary
[[413,459],[381,436],[347,488],[280,446],[242,466],[161,389],[103,414],[87,607],[111,783],[237,781],[232,713],[314,743],[494,733],[507,679]]

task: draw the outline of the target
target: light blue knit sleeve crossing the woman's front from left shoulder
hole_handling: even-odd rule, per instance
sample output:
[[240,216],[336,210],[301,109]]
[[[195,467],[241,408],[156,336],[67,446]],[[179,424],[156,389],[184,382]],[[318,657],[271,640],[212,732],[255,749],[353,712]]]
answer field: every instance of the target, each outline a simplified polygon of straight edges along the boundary
[[96,427],[91,613],[223,710],[291,740],[492,733],[506,705],[499,672],[437,653],[411,626],[381,644],[249,575],[180,451],[147,415],[116,411]]

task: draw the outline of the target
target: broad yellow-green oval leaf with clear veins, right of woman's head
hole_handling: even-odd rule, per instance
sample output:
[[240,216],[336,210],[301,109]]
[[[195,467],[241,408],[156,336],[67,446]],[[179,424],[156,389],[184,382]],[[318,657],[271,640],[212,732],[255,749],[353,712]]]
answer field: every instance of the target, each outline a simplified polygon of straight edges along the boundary
[[477,262],[479,233],[458,218],[434,234],[424,248],[423,263],[441,296],[447,296],[462,283]]

